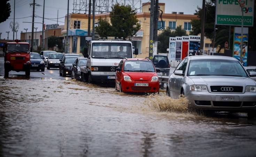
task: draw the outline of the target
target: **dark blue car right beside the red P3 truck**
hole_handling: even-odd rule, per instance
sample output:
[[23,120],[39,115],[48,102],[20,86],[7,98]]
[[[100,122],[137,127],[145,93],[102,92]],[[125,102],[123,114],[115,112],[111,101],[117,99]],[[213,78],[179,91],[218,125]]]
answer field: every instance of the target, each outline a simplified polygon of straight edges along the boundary
[[44,57],[41,57],[38,53],[36,52],[30,53],[30,62],[31,62],[30,70],[45,71]]

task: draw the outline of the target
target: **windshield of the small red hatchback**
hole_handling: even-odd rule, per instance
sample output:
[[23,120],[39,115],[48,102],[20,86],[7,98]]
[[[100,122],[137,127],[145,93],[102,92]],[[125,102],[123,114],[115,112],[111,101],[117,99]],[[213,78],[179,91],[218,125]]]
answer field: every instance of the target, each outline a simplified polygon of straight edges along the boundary
[[124,71],[155,72],[155,68],[152,62],[150,61],[131,60],[131,61],[125,61]]

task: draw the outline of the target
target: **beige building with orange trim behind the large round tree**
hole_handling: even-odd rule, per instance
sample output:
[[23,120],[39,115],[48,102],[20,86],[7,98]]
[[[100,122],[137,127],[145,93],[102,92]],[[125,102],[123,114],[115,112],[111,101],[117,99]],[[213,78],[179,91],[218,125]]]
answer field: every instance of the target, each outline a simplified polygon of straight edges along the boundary
[[[129,39],[133,42],[133,46],[139,49],[139,57],[146,57],[149,54],[149,28],[150,28],[150,3],[142,4],[142,12],[136,16],[141,24],[141,29],[137,34]],[[181,28],[186,30],[189,35],[192,30],[191,20],[197,19],[197,15],[186,15],[183,13],[165,14],[165,3],[159,3],[160,9],[163,10],[163,23],[164,28],[170,28],[175,30],[177,26],[181,25]],[[92,17],[92,16],[91,16]],[[110,21],[109,13],[96,14],[95,23],[98,22],[99,18],[107,18]],[[160,19],[160,17],[159,17]],[[62,35],[66,36],[66,25],[67,18],[65,18],[64,29]],[[92,27],[92,19],[91,19]],[[158,27],[161,27],[161,22],[158,22]],[[92,28],[91,28],[92,29]],[[86,44],[86,36],[88,30],[88,14],[71,14],[69,15],[69,39],[68,39],[68,52],[80,53]],[[92,31],[91,31],[92,32]],[[158,34],[162,31],[158,31]],[[206,40],[206,46],[210,46],[211,42]],[[207,50],[207,49],[206,49]]]

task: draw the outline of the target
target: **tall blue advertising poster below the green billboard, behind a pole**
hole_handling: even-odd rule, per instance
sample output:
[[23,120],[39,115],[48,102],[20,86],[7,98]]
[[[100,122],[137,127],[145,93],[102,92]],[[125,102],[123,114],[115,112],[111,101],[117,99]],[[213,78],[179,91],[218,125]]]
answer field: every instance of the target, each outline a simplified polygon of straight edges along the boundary
[[[234,57],[240,61],[241,52],[241,28],[235,27],[234,30]],[[248,49],[248,28],[243,28],[243,50],[242,50],[242,64],[247,66],[247,49]]]

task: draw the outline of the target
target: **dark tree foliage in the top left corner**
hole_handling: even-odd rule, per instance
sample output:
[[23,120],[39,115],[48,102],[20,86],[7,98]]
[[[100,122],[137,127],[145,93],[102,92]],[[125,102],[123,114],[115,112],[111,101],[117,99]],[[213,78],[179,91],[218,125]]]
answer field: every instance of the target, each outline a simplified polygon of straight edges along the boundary
[[10,16],[11,5],[8,1],[9,0],[0,1],[0,23],[5,22],[6,19]]

